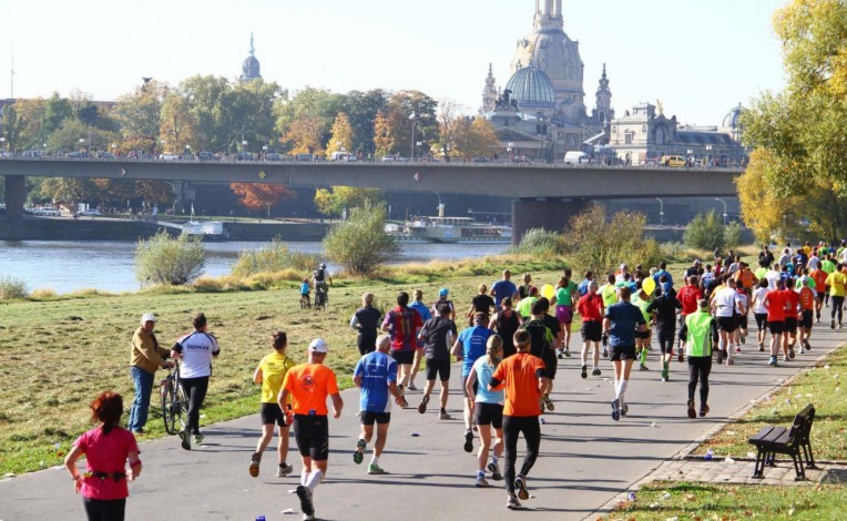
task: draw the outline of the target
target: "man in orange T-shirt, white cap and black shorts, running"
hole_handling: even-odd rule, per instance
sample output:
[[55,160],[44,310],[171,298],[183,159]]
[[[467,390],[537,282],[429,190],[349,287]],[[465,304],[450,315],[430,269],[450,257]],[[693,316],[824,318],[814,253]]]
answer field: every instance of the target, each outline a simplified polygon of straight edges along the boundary
[[308,347],[309,361],[288,369],[277,399],[280,408],[286,407],[289,397],[292,400],[294,439],[303,460],[297,498],[305,520],[315,519],[313,494],[326,474],[329,459],[327,396],[333,400],[333,418],[341,416],[344,407],[335,372],[324,365],[328,350],[323,338],[312,340]]

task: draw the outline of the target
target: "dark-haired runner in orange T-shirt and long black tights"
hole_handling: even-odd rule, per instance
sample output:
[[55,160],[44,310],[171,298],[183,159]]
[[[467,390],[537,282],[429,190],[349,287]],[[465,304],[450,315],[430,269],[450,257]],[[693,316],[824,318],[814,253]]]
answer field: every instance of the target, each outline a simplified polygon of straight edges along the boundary
[[[544,362],[529,353],[531,339],[527,330],[514,334],[518,354],[497,366],[488,385],[489,390],[506,389],[503,406],[503,445],[506,449],[506,490],[509,493],[506,507],[510,510],[521,508],[520,500],[529,499],[527,477],[535,464],[541,446],[541,426],[539,425],[539,400],[547,387]],[[518,436],[523,433],[527,452],[521,471],[516,476],[514,463],[518,460]],[[517,493],[516,493],[517,491]]]

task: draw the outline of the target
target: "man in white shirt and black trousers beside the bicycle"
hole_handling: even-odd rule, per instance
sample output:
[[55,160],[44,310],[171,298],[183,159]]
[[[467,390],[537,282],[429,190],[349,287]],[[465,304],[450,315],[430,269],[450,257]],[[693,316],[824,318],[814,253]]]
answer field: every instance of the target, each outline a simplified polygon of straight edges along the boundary
[[217,358],[221,348],[217,339],[206,333],[206,316],[198,313],[192,320],[194,330],[178,340],[171,348],[171,358],[182,360],[180,368],[180,385],[188,397],[188,421],[180,431],[182,448],[191,450],[191,435],[194,435],[194,443],[203,442],[200,432],[200,409],[208,390],[208,377],[212,376],[212,358]]

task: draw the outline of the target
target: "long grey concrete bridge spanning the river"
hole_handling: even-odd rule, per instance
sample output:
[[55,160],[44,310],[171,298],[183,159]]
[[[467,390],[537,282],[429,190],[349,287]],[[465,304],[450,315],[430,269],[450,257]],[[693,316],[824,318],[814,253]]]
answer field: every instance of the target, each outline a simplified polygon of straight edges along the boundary
[[533,227],[561,229],[590,200],[734,196],[741,173],[734,168],[519,163],[0,159],[11,217],[23,212],[25,176],[354,186],[512,197],[516,239]]

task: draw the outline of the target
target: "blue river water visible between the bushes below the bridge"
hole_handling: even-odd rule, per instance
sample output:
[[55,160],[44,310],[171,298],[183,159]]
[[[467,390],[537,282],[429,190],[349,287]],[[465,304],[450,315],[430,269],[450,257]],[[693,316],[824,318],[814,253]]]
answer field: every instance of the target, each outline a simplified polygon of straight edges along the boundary
[[[256,249],[267,243],[206,243],[204,275],[227,275],[238,253]],[[292,251],[320,254],[320,242],[288,243]],[[496,255],[506,244],[415,244],[400,243],[397,264],[433,259],[455,260]],[[23,280],[29,290],[51,288],[57,293],[94,288],[105,292],[139,289],[135,280],[135,243],[21,241],[0,243],[0,277]],[[331,272],[338,269],[329,263]]]

